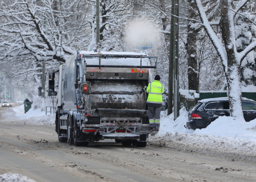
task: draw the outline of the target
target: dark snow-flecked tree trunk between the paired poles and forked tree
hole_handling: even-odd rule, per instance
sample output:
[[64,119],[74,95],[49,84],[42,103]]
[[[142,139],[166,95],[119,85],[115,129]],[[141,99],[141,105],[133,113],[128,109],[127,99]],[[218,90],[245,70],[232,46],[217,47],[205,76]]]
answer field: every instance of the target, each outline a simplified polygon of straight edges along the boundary
[[[196,4],[194,0],[190,0],[190,6],[193,9],[196,9]],[[194,12],[194,10],[189,9],[189,18],[195,19],[197,14]],[[191,25],[195,23],[195,21],[189,22],[188,25],[188,36],[187,36],[187,59],[188,59],[188,81],[189,81],[189,90],[195,90],[199,92],[199,83],[198,83],[198,75],[196,73],[197,71],[197,52],[196,52],[196,31],[194,27],[191,27]]]

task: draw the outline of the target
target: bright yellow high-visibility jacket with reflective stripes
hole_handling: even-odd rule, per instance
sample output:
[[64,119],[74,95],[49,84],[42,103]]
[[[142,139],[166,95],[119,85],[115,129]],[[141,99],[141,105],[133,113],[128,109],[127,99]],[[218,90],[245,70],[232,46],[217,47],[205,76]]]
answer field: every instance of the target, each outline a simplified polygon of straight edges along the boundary
[[149,83],[146,92],[149,94],[147,97],[147,103],[162,104],[164,93],[164,85],[162,85],[158,80]]

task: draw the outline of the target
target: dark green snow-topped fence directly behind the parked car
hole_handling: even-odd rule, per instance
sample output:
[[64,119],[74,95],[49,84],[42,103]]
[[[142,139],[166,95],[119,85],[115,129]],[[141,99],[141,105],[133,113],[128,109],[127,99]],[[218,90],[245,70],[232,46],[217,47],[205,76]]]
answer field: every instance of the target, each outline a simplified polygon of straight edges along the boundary
[[[227,91],[201,91],[199,93],[199,100],[217,98],[217,97],[227,97]],[[242,92],[242,97],[247,99],[252,99],[256,101],[256,92]]]

